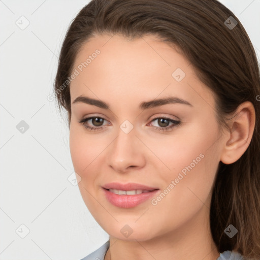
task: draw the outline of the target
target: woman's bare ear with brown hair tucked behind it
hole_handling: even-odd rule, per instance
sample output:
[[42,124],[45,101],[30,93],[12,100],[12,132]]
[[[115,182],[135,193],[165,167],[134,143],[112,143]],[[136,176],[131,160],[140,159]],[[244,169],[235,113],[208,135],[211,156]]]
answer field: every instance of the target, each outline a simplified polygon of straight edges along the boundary
[[234,113],[230,122],[230,133],[222,149],[220,160],[223,164],[235,163],[248,148],[255,125],[255,110],[251,102],[242,103]]

